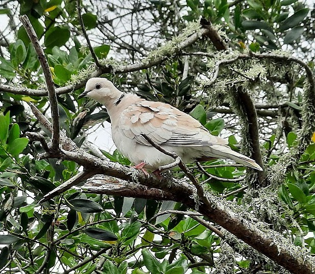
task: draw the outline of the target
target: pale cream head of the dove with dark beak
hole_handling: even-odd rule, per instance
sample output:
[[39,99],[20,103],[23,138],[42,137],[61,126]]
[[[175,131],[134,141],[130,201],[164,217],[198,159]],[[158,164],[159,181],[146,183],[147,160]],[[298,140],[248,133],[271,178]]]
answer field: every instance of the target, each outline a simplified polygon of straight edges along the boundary
[[111,101],[115,101],[117,97],[119,98],[121,94],[122,92],[107,79],[91,78],[86,82],[85,90],[78,98],[87,96],[106,106]]

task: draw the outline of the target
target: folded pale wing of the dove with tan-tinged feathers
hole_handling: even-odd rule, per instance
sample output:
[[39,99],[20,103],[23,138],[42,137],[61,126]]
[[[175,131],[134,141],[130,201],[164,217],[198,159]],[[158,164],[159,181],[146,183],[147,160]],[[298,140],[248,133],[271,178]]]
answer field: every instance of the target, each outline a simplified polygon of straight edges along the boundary
[[141,134],[157,144],[171,146],[227,145],[227,140],[211,135],[190,115],[171,105],[140,101],[130,105],[119,117],[123,133],[143,145],[150,145]]

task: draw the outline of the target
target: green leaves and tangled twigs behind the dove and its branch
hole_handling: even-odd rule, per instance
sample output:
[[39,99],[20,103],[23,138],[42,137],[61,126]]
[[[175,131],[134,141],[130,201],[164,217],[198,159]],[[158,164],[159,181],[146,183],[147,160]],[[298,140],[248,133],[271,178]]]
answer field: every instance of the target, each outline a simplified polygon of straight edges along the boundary
[[[188,211],[183,203],[150,200],[141,192],[122,197],[75,188],[38,204],[82,167],[75,161],[39,160],[43,147],[26,135],[40,133],[50,140],[51,133],[28,103],[48,118],[51,109],[44,96],[43,70],[18,20],[23,14],[44,48],[57,88],[60,127],[67,137],[98,157],[130,164],[119,152],[110,154],[87,141],[86,130],[109,117],[103,106],[77,96],[91,74],[101,71],[121,90],[190,113],[212,134],[228,137],[235,150],[259,158],[258,143],[265,167],[260,175],[223,160],[189,168],[211,197],[236,216],[269,233],[279,246],[287,245],[293,257],[312,258],[311,5],[297,0],[2,1],[0,20],[6,18],[8,25],[0,33],[1,272],[287,272],[208,217],[196,218],[196,208]],[[212,22],[227,51],[217,51],[207,37],[179,49],[198,32],[201,17]],[[263,55],[271,51],[270,57]],[[161,61],[151,65],[156,59]],[[145,67],[121,73],[131,64]],[[242,92],[253,102],[256,137]],[[180,169],[173,176],[184,180]],[[277,242],[278,235],[286,242]]]

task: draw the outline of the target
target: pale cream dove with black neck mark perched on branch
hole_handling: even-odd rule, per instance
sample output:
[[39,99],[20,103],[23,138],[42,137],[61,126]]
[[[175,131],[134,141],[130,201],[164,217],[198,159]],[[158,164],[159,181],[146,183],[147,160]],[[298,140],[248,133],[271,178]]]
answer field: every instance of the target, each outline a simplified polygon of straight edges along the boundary
[[144,173],[144,168],[158,170],[174,159],[157,150],[141,134],[175,152],[184,163],[220,158],[262,170],[254,160],[233,151],[228,140],[211,135],[198,120],[171,105],[124,93],[105,78],[89,79],[78,98],[84,96],[106,107],[117,149]]

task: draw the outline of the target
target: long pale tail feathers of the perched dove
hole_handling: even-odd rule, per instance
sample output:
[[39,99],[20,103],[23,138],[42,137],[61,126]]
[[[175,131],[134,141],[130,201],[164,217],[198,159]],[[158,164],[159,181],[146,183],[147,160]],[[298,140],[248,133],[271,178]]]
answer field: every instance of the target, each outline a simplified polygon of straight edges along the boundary
[[251,158],[248,158],[247,156],[240,154],[238,152],[235,152],[231,150],[229,146],[223,146],[223,145],[210,145],[207,146],[207,151],[203,151],[204,157],[198,159],[200,161],[207,161],[211,158],[221,158],[221,159],[230,159],[237,163],[244,164],[246,166],[258,169],[262,171],[262,168]]

